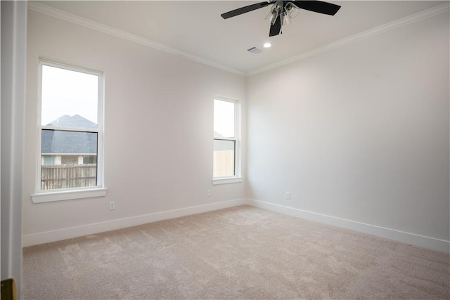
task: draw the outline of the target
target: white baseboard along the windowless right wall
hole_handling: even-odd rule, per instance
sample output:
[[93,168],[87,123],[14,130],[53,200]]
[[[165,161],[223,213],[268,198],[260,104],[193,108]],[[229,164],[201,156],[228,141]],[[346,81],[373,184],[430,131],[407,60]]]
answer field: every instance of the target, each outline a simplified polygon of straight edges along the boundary
[[311,211],[304,211],[302,209],[295,209],[293,207],[284,207],[282,205],[262,202],[259,200],[248,199],[245,200],[245,204],[251,205],[253,207],[276,211],[278,213],[287,214],[289,216],[296,216],[298,218],[306,219],[309,221],[317,221],[320,223],[326,223],[333,226],[359,231],[361,233],[368,233],[370,235],[376,235],[378,237],[385,237],[397,242],[413,244],[415,246],[424,247],[447,254],[450,253],[450,241],[448,240],[439,240],[434,237],[425,237],[423,235],[416,235],[414,233],[405,233],[403,231],[394,230],[391,228],[384,228],[357,221],[340,219],[335,216],[317,214]]

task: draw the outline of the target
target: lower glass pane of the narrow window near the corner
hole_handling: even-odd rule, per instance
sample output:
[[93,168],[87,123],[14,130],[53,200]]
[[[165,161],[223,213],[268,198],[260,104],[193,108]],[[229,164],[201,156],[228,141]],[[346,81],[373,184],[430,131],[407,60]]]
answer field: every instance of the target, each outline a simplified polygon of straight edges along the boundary
[[214,140],[214,177],[234,176],[236,141]]

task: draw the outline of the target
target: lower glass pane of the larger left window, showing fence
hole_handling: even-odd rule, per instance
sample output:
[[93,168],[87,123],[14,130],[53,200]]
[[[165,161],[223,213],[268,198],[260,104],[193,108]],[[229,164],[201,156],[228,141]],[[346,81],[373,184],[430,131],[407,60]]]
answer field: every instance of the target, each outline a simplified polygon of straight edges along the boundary
[[97,185],[98,133],[42,129],[41,137],[41,190]]

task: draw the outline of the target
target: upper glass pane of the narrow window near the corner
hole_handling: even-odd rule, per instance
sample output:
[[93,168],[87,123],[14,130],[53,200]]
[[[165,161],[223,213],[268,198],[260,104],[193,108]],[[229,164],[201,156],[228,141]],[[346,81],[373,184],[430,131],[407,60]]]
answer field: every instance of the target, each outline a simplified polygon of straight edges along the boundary
[[214,99],[214,138],[234,138],[235,103]]

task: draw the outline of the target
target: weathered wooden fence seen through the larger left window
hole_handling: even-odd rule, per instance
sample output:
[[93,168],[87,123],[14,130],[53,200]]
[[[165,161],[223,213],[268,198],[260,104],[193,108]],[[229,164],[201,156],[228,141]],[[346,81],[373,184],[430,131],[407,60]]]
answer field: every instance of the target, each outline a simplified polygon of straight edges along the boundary
[[41,166],[41,190],[97,185],[97,164]]

